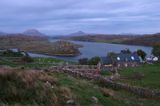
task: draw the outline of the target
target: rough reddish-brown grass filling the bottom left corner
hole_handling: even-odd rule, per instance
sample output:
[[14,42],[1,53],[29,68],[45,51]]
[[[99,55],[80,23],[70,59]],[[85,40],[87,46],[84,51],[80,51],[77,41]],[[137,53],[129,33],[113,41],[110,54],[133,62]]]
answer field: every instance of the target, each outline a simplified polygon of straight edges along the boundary
[[56,78],[44,72],[0,69],[0,103],[58,106],[63,101],[56,83]]

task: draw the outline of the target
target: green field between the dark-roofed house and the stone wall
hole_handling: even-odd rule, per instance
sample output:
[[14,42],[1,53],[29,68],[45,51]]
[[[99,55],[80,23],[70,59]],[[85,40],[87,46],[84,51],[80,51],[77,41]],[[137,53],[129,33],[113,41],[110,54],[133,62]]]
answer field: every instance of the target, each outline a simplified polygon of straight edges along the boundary
[[160,63],[155,64],[144,64],[134,68],[126,68],[120,70],[121,76],[132,76],[134,73],[143,74],[141,80],[138,79],[127,79],[121,82],[129,83],[131,85],[138,85],[142,87],[160,89]]

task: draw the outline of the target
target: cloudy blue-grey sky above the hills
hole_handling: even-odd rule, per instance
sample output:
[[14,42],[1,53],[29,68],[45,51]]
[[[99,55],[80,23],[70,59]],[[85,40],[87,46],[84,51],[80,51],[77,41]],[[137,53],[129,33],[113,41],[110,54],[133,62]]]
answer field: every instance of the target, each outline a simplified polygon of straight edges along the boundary
[[160,32],[159,0],[0,0],[0,31],[47,35]]

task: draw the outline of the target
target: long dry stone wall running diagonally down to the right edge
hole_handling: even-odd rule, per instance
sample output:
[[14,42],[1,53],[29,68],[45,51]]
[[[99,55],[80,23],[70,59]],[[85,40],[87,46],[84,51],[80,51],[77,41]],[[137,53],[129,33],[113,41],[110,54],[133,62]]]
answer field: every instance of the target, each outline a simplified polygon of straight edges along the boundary
[[160,91],[151,90],[148,88],[143,88],[143,87],[138,87],[138,86],[131,86],[131,85],[124,84],[124,83],[117,83],[99,74],[86,73],[86,72],[81,72],[81,71],[76,71],[76,70],[65,70],[65,69],[63,70],[60,69],[59,71],[58,70],[59,69],[56,69],[56,70],[52,69],[50,71],[63,72],[63,73],[68,73],[75,77],[81,77],[81,78],[85,78],[88,80],[100,81],[104,85],[110,86],[113,89],[123,89],[123,90],[129,91],[131,93],[134,93],[134,94],[137,94],[143,97],[160,98]]

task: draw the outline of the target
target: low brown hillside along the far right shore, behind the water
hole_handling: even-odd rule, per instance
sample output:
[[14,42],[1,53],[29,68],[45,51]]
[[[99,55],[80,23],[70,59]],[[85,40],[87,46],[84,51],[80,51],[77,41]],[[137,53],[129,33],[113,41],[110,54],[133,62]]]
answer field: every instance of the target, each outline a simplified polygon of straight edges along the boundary
[[105,43],[121,43],[129,45],[144,45],[153,46],[155,44],[160,44],[160,34],[150,34],[150,35],[84,35],[84,36],[68,36],[59,37],[61,39],[69,39],[76,41],[89,41],[89,42],[105,42]]

